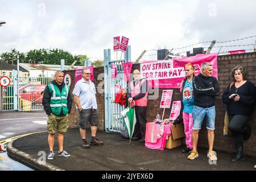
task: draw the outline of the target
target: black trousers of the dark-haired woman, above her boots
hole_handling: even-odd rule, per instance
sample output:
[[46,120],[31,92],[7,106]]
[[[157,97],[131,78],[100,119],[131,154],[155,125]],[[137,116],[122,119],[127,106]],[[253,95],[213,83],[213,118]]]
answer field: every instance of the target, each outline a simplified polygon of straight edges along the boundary
[[249,125],[248,118],[245,115],[229,115],[229,130],[234,136],[236,146],[243,145],[243,128]]

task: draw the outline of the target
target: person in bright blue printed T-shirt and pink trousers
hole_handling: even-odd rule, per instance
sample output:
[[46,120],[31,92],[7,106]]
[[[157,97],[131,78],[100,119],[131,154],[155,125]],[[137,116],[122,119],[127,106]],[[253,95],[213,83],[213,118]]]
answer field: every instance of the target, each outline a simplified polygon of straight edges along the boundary
[[181,85],[182,103],[183,103],[183,123],[184,132],[186,135],[186,148],[182,150],[183,153],[190,154],[193,150],[192,131],[193,131],[193,117],[192,111],[194,107],[193,96],[193,76],[195,68],[193,64],[188,63],[185,65],[185,76],[183,84]]

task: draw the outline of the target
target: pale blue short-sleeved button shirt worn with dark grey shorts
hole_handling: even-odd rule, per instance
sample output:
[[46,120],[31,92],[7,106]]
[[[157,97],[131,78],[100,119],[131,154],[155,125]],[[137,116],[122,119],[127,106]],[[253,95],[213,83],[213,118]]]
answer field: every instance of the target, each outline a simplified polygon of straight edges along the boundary
[[73,94],[79,97],[82,109],[97,109],[96,89],[92,81],[86,82],[84,78],[77,81]]

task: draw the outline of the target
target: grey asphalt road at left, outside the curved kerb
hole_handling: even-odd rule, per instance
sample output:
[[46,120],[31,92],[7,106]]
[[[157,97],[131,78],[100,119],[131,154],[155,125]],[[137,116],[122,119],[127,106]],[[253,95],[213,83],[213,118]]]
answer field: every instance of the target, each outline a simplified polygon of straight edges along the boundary
[[[18,135],[47,130],[47,115],[44,111],[0,112],[0,142]],[[0,171],[32,171],[15,160],[6,152],[0,152]]]

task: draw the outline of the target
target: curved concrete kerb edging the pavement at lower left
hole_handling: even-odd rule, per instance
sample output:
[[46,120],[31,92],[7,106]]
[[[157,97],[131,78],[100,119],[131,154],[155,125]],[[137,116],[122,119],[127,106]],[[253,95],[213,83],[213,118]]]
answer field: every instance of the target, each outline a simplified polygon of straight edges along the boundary
[[[42,131],[42,132],[38,132],[38,133],[44,133],[44,132],[46,132],[46,131]],[[23,137],[26,137],[28,135],[38,134],[38,133],[26,134]],[[19,138],[22,138],[22,137],[19,137]],[[15,140],[17,140],[19,138],[11,140],[11,142],[8,143],[6,151],[7,151],[7,155],[9,156],[9,158],[16,160],[17,162],[22,163],[25,166],[31,167],[32,169],[35,169],[35,170],[65,171],[64,169],[53,166],[52,164],[49,164],[47,162],[42,162],[38,159],[35,159],[33,156],[31,156],[25,152],[19,151],[18,149],[13,147],[13,143],[15,142]]]

